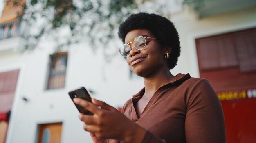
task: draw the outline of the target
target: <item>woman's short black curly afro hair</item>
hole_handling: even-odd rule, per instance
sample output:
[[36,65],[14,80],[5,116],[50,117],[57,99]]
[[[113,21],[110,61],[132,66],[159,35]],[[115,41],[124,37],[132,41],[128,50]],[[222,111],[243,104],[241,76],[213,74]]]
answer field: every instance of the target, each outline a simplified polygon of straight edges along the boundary
[[162,46],[171,47],[172,52],[169,54],[168,66],[173,69],[177,65],[180,56],[180,40],[178,32],[170,20],[153,13],[132,14],[119,27],[118,36],[123,43],[126,34],[135,29],[149,30],[160,39],[159,42]]

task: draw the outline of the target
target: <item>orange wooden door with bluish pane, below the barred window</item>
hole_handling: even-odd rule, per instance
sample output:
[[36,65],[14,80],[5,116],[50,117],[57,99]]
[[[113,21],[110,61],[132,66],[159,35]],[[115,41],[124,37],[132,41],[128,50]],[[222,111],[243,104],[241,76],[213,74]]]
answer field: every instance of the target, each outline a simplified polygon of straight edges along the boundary
[[61,143],[62,123],[38,125],[38,143]]

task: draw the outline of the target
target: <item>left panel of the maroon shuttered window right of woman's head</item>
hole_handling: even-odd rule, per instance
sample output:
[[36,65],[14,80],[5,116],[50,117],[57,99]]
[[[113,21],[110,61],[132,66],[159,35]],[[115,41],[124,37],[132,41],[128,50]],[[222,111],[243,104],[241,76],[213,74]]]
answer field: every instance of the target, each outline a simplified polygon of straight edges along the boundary
[[238,65],[235,45],[229,35],[199,39],[197,45],[202,72]]

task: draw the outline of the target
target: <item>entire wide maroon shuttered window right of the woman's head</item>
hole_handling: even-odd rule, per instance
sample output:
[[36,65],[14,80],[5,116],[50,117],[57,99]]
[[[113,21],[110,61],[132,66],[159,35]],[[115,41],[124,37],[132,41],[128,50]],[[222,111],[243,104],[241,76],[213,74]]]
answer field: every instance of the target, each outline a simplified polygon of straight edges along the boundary
[[196,39],[200,72],[239,67],[256,71],[256,28]]

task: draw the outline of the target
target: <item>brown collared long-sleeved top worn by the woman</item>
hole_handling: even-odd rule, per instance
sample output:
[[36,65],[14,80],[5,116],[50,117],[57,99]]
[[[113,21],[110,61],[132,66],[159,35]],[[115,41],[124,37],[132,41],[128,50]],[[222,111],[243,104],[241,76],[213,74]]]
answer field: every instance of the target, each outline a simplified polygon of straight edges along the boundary
[[222,106],[207,80],[177,74],[155,92],[138,119],[135,104],[144,92],[123,108],[124,115],[147,130],[143,143],[226,142]]

